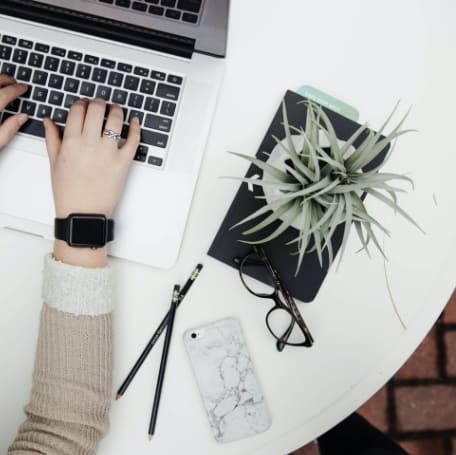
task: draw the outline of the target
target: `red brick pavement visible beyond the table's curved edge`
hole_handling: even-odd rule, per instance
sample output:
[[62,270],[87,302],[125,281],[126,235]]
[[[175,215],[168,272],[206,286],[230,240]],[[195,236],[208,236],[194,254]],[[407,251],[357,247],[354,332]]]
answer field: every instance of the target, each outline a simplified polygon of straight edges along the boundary
[[[456,290],[415,353],[358,412],[410,455],[456,455]],[[318,446],[291,455],[319,455]]]

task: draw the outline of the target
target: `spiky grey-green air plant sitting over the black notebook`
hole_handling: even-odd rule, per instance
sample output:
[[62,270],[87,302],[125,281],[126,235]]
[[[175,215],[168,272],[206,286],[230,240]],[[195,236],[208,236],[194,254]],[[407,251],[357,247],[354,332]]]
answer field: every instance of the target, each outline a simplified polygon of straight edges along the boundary
[[[266,243],[278,237],[291,225],[297,227],[298,235],[287,243],[297,247],[296,274],[306,253],[315,251],[322,265],[323,252],[327,250],[329,265],[332,264],[334,252],[331,239],[341,224],[343,237],[340,259],[352,226],[355,227],[362,244],[360,251],[365,250],[369,255],[368,246],[372,241],[384,255],[373,227],[386,235],[389,235],[389,232],[367,211],[363,195],[383,202],[421,230],[398,205],[397,193],[404,190],[390,184],[392,180],[403,180],[409,182],[413,188],[413,181],[404,175],[379,172],[391,155],[393,141],[411,131],[401,130],[407,114],[386,136],[383,136],[384,130],[396,109],[378,132],[372,131],[364,124],[347,141],[341,142],[324,110],[310,101],[302,102],[307,105],[307,118],[305,127],[300,128],[289,124],[285,103],[282,105],[285,138],[280,140],[274,136],[286,158],[281,166],[274,166],[241,153],[233,153],[263,171],[260,179],[242,178],[241,181],[261,187],[265,193],[272,189],[275,194],[273,200],[267,200],[264,206],[233,228],[258,220],[255,226],[242,233],[251,235],[262,231],[277,220],[281,221],[270,235],[258,240],[241,241],[250,244]],[[296,136],[301,139],[294,140]],[[301,142],[302,146],[298,147],[297,142]],[[366,165],[382,152],[385,153],[386,149],[388,151],[379,165],[363,171]]]

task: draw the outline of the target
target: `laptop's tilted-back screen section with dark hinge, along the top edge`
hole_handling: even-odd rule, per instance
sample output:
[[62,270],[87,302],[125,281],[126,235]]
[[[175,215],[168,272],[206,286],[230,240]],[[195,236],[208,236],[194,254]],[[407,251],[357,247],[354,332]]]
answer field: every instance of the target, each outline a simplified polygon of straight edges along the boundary
[[229,0],[1,0],[0,12],[180,57],[226,53]]

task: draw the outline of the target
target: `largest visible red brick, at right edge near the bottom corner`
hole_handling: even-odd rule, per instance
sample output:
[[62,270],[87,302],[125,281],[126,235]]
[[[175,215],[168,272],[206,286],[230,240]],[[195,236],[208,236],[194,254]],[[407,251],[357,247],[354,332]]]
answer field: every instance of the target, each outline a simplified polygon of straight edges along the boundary
[[456,426],[456,387],[397,387],[397,427],[400,431],[447,430]]

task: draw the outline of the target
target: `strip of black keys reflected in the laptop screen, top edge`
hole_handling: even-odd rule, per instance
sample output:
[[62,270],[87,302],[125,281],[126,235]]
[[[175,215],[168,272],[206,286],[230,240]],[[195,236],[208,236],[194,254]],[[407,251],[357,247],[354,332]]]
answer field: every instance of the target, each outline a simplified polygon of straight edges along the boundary
[[164,19],[198,24],[203,0],[97,0]]

